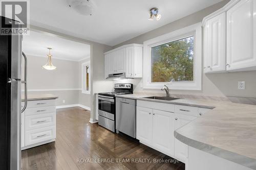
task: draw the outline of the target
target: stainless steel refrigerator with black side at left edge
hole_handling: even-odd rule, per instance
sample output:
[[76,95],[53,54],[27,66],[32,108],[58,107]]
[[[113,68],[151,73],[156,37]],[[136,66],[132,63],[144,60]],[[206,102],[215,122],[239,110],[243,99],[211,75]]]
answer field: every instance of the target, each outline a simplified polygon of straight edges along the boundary
[[[1,16],[2,21],[8,19]],[[9,19],[10,22],[13,20]],[[10,25],[11,27],[11,25]],[[22,57],[25,70],[21,69]],[[0,34],[0,167],[20,169],[20,117],[27,105],[27,59],[22,53],[22,36]],[[22,72],[25,80],[22,81]],[[25,106],[21,87],[25,84]]]

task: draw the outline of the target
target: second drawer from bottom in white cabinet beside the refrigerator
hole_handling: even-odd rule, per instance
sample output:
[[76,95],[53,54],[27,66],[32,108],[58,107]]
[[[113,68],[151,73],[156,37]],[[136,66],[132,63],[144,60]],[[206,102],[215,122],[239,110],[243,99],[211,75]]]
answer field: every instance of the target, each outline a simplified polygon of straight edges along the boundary
[[56,114],[55,113],[46,113],[46,114],[26,116],[25,130],[28,131],[28,130],[33,130],[33,129],[54,126],[55,122],[56,122]]

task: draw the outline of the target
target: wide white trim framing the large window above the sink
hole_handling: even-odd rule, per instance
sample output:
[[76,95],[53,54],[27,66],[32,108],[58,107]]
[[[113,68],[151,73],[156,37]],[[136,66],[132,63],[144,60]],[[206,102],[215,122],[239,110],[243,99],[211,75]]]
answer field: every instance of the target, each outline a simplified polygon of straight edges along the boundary
[[[164,34],[143,42],[143,88],[160,89],[167,84],[174,90],[202,89],[202,27],[201,22],[180,30]],[[191,82],[151,82],[151,47],[179,40],[194,35],[194,77]],[[150,74],[148,74],[150,72]]]

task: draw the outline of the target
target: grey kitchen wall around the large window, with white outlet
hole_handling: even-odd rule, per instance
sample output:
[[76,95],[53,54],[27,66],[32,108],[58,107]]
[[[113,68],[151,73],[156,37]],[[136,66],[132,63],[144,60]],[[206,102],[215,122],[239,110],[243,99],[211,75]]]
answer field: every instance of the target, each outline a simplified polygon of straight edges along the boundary
[[[153,31],[147,32],[125,42],[122,42],[114,47],[118,47],[130,43],[143,44],[144,41],[158,37],[160,35],[193,25],[194,23],[201,22],[202,19],[208,14],[220,9],[229,0],[222,1],[216,5],[205,8],[194,14],[176,20],[174,22],[168,23],[167,25],[157,28]],[[198,95],[212,95],[212,96],[246,96],[255,97],[256,96],[256,71],[250,72],[233,72],[233,73],[223,73],[223,74],[203,74],[202,76],[202,90],[201,91],[191,91],[191,90],[171,90],[171,93],[178,94],[198,94]],[[122,81],[114,81],[123,82]],[[161,90],[149,90],[142,89],[140,85],[142,80],[125,80],[126,82],[134,83],[136,88],[135,91],[142,92],[162,92]],[[238,81],[245,81],[245,90],[238,90]]]

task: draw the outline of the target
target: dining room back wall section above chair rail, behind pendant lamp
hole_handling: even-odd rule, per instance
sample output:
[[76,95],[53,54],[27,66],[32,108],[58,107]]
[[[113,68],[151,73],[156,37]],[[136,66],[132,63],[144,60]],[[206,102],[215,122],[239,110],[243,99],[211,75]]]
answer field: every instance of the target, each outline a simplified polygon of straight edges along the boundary
[[28,89],[56,89],[56,88],[79,88],[78,66],[75,61],[52,59],[55,70],[42,69],[47,62],[47,57],[28,58]]

